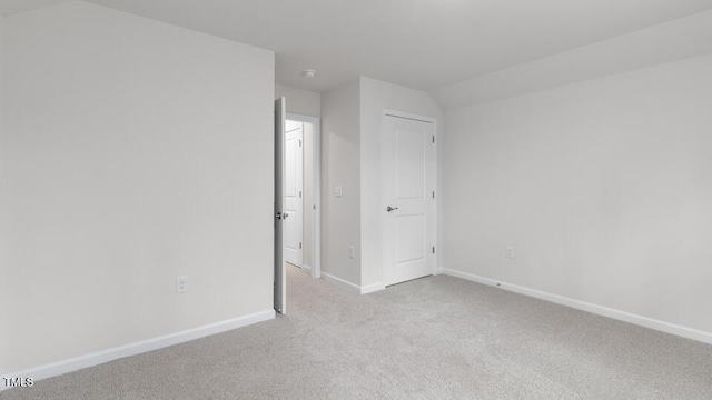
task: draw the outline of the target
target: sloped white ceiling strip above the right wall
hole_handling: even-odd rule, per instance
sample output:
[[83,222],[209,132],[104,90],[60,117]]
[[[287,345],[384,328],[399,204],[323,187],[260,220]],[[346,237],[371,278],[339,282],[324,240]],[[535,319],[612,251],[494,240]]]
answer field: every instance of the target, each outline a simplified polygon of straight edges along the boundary
[[488,103],[712,53],[712,10],[429,91],[443,110]]

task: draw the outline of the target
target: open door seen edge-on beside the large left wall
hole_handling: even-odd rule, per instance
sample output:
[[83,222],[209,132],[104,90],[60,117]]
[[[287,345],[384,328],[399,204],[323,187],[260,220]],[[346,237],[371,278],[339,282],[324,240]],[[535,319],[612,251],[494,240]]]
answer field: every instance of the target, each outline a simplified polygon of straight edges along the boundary
[[287,101],[275,100],[275,310],[287,313],[287,270],[284,254],[285,120]]

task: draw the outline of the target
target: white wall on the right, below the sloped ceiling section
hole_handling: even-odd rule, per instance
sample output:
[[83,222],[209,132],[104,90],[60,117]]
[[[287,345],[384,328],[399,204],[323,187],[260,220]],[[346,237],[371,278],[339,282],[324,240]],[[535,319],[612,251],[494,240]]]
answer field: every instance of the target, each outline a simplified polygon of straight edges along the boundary
[[704,56],[448,111],[445,267],[712,332],[710,71]]

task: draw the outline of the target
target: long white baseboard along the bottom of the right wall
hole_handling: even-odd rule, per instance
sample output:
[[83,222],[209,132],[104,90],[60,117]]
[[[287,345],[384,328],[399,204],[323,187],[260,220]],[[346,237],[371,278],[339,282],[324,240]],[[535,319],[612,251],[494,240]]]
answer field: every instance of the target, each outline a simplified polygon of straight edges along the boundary
[[473,281],[473,282],[477,282],[477,283],[482,283],[482,284],[486,284],[486,286],[495,286],[495,287],[498,287],[498,288],[502,288],[504,290],[507,290],[507,291],[511,291],[511,292],[515,292],[515,293],[518,293],[518,294],[533,297],[533,298],[536,298],[536,299],[540,299],[540,300],[551,301],[553,303],[571,307],[571,308],[574,308],[574,309],[577,309],[577,310],[587,311],[587,312],[591,312],[591,313],[594,313],[594,314],[599,314],[599,316],[616,319],[616,320],[629,322],[629,323],[633,323],[633,324],[636,324],[636,326],[641,326],[641,327],[659,330],[661,332],[675,334],[675,336],[679,336],[679,337],[683,337],[683,338],[701,341],[703,343],[712,344],[712,333],[711,332],[705,332],[705,331],[701,331],[701,330],[698,330],[698,329],[688,328],[688,327],[683,327],[683,326],[679,326],[679,324],[674,324],[674,323],[670,323],[670,322],[665,322],[665,321],[661,321],[661,320],[656,320],[656,319],[652,319],[652,318],[647,318],[647,317],[630,313],[630,312],[626,312],[626,311],[612,309],[612,308],[604,307],[604,306],[593,304],[593,303],[590,303],[590,302],[566,298],[566,297],[558,296],[558,294],[552,294],[552,293],[543,292],[543,291],[540,291],[540,290],[536,290],[536,289],[530,289],[530,288],[525,288],[525,287],[521,287],[521,286],[516,286],[516,284],[501,282],[501,281],[497,281],[497,280],[494,280],[494,279],[478,277],[478,276],[475,276],[475,274],[472,274],[472,273],[456,271],[456,270],[452,270],[452,269],[447,269],[447,268],[443,269],[443,273],[448,274],[451,277],[461,278],[461,279],[465,279],[465,280],[468,280],[468,281]]

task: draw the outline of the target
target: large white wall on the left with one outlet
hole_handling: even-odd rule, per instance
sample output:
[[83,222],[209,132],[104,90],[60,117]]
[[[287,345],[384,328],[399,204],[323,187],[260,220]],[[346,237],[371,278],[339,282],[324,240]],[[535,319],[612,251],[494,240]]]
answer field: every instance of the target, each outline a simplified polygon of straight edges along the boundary
[[271,310],[274,53],[85,2],[4,22],[0,372]]

